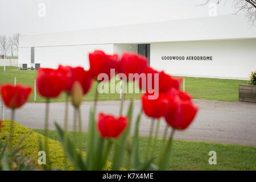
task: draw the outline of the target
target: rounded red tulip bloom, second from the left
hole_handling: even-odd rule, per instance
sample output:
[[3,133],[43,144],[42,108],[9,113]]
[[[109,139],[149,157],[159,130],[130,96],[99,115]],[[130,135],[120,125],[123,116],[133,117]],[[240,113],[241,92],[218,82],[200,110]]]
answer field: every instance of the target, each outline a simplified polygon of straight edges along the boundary
[[67,76],[63,71],[51,68],[40,68],[36,76],[36,86],[41,96],[57,97],[67,84]]

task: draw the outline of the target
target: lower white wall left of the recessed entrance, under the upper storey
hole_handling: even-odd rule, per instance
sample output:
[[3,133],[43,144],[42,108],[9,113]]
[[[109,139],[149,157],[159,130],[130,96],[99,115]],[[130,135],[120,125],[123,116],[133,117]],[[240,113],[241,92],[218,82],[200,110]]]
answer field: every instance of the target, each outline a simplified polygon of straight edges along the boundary
[[[30,48],[28,49],[30,53]],[[40,63],[41,67],[48,68],[57,68],[59,64],[63,64],[89,69],[89,52],[96,49],[112,54],[113,44],[35,47],[35,63]],[[19,63],[27,63],[30,67],[30,56],[28,59],[27,48],[19,48],[19,50]]]

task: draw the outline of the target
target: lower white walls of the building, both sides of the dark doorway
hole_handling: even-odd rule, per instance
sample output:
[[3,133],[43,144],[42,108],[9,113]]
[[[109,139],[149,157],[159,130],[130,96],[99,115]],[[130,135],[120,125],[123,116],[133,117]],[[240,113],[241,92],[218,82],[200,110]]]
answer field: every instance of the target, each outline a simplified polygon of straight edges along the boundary
[[[150,65],[171,75],[248,78],[256,70],[256,39],[207,40],[150,44]],[[59,64],[89,69],[88,53],[101,49],[106,53],[137,52],[137,44],[96,44],[81,46],[35,47],[35,63],[57,68]],[[212,56],[212,61],[162,60],[162,56]],[[19,64],[30,67],[30,48],[19,48]]]

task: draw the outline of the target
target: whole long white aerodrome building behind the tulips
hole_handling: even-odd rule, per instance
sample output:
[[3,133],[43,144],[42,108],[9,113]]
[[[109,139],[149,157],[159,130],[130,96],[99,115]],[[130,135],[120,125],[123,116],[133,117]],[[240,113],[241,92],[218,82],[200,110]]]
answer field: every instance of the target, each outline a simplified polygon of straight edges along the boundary
[[241,15],[223,15],[25,35],[19,39],[19,64],[89,69],[88,53],[95,49],[141,53],[171,75],[246,79],[256,69],[256,26]]

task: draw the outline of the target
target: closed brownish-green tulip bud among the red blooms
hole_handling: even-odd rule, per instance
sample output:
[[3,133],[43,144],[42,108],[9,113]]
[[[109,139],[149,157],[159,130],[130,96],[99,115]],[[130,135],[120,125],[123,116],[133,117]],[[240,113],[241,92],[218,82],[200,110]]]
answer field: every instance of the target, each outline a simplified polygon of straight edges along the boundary
[[71,101],[74,107],[78,108],[82,102],[82,86],[79,81],[75,81],[71,89]]

